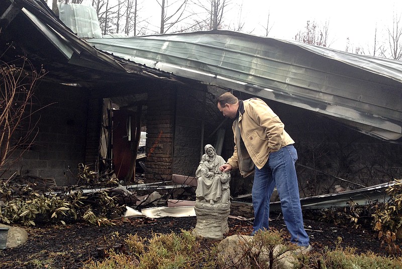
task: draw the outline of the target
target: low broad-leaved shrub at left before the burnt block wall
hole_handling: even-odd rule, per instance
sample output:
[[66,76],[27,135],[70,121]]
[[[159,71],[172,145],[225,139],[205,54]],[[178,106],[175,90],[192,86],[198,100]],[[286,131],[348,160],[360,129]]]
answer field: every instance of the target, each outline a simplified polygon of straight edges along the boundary
[[[79,176],[86,178],[88,184],[99,186],[117,186],[116,178],[100,180],[84,166]],[[119,199],[109,196],[107,191],[84,194],[82,187],[51,192],[35,190],[35,185],[15,184],[10,180],[0,180],[0,222],[19,223],[25,226],[37,223],[72,223],[87,221],[96,225],[114,225],[109,218],[121,215],[124,205]]]

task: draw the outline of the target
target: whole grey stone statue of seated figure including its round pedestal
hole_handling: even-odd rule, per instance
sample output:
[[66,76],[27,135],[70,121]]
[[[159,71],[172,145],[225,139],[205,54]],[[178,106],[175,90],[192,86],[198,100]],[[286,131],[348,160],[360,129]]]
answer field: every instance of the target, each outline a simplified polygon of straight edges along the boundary
[[219,166],[226,161],[217,155],[215,148],[208,144],[205,154],[195,171],[197,189],[195,191],[195,215],[197,224],[193,233],[207,239],[223,239],[229,231],[230,213],[230,172],[222,172]]

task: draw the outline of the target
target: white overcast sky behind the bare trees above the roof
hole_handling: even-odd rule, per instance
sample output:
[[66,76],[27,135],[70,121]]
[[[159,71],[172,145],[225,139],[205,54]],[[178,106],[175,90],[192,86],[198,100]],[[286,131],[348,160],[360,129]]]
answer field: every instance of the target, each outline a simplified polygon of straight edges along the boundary
[[[111,1],[117,2],[117,0]],[[166,1],[180,2],[180,0]],[[199,1],[201,3],[205,1],[207,5],[210,3],[209,0]],[[402,13],[402,0],[227,1],[230,1],[230,5],[225,14],[225,23],[233,25],[241,11],[241,21],[245,22],[243,32],[265,36],[264,27],[266,27],[268,14],[270,14],[269,25],[272,27],[268,36],[286,40],[293,40],[299,31],[304,31],[308,20],[315,21],[320,26],[328,22],[330,47],[342,51],[346,49],[348,37],[351,47],[360,46],[367,49],[368,46],[372,46],[376,25],[377,40],[387,41],[386,30],[392,27],[393,13],[398,16]],[[84,0],[85,2],[88,4],[91,0]],[[160,25],[158,2],[160,3],[161,0],[139,0],[142,8],[141,17],[147,18],[147,21],[153,25],[149,27],[153,33],[159,31]]]

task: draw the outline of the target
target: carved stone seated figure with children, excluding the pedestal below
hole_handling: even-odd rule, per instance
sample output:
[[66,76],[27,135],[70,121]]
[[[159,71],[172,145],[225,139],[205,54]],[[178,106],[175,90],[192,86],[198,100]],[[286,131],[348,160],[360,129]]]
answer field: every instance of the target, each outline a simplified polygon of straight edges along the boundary
[[230,201],[230,173],[221,172],[219,166],[226,161],[217,155],[215,148],[208,144],[205,146],[205,154],[195,171],[197,177],[197,189],[195,196],[198,202],[229,203]]

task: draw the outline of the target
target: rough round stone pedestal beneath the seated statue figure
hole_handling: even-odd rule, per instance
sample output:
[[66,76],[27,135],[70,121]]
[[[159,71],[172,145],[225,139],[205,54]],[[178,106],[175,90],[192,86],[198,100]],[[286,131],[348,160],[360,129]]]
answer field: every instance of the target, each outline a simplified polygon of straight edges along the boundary
[[228,217],[230,214],[230,202],[227,204],[208,202],[195,202],[195,215],[197,224],[192,233],[195,236],[212,240],[222,240],[223,234],[229,232]]

